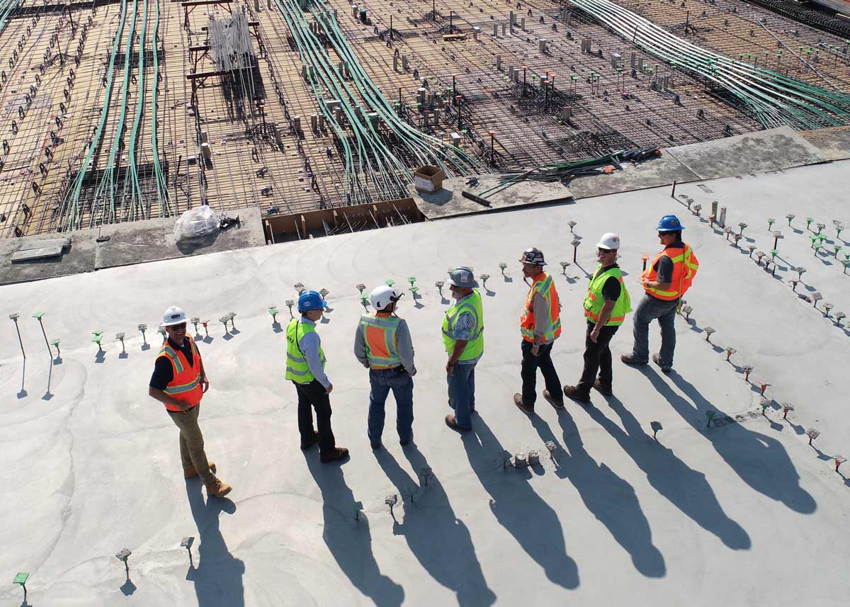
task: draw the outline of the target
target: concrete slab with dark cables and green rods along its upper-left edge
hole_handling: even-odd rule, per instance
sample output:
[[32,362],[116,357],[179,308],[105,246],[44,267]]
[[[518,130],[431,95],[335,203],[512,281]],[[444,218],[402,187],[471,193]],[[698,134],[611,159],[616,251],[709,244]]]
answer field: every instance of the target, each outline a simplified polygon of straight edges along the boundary
[[700,179],[682,162],[662,150],[661,156],[638,165],[623,164],[621,171],[609,175],[590,175],[570,181],[576,198],[592,198],[617,192],[655,188],[659,185]]

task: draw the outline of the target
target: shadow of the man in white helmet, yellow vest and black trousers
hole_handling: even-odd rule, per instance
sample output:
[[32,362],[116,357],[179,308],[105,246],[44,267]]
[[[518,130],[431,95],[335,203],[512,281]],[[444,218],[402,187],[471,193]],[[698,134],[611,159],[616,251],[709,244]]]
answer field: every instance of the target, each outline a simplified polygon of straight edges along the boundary
[[605,417],[602,411],[590,408],[588,413],[643,470],[649,485],[693,519],[694,523],[717,536],[727,547],[733,550],[749,549],[752,545],[750,536],[723,512],[706,475],[689,468],[671,449],[644,433],[638,420],[630,411],[626,411],[626,407],[616,397],[609,396],[608,404],[620,417],[625,432]]

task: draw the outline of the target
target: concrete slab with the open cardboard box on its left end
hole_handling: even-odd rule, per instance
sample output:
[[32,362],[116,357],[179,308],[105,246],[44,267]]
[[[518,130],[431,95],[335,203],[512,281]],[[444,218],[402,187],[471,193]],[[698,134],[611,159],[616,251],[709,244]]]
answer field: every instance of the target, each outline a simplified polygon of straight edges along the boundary
[[[473,178],[478,179],[479,184],[474,186],[467,185],[467,181]],[[504,190],[494,192],[492,196],[486,198],[490,202],[489,207],[484,207],[484,205],[480,205],[461,195],[463,190],[478,194],[500,183],[501,175],[492,173],[446,179],[443,182],[443,187],[433,192],[433,194],[420,192],[413,187],[413,184],[409,185],[407,190],[410,192],[414,201],[416,201],[416,207],[428,219],[458,217],[472,213],[482,213],[484,211],[495,211],[497,209],[564,201],[572,198],[570,189],[563,184],[548,184],[536,181],[518,182],[517,184],[507,186]]]

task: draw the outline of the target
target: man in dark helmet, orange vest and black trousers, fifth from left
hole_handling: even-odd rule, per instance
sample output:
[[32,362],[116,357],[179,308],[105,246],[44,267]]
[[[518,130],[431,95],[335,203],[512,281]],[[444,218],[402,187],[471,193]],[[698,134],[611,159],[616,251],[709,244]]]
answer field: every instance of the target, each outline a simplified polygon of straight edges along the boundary
[[552,276],[543,271],[546,261],[540,249],[525,249],[519,262],[523,264],[523,280],[531,280],[529,294],[525,298],[523,315],[519,319],[522,333],[523,393],[513,394],[513,404],[524,413],[534,413],[537,400],[537,369],[543,373],[546,389],[543,398],[556,409],[564,408],[561,397],[561,380],[552,364],[552,346],[561,334],[561,312],[558,290]]

